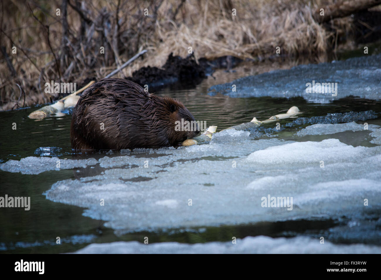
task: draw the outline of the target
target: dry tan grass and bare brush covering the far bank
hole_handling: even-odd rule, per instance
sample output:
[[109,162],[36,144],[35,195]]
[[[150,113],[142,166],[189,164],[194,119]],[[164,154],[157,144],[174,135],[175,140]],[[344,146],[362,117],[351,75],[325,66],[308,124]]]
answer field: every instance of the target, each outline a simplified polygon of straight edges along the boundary
[[[44,92],[46,82],[77,82],[80,86],[86,78],[102,78],[142,49],[149,50],[144,59],[133,62],[120,77],[130,76],[142,66],[160,67],[170,52],[185,57],[189,47],[196,59],[269,57],[279,46],[282,54],[322,62],[333,38],[312,16],[316,8],[333,0],[70,1],[73,5],[77,2],[84,5],[82,10],[78,5],[84,17],[67,8],[67,42],[62,14],[56,16],[61,1],[29,2],[40,22],[24,1],[3,2],[0,46],[6,47],[16,71],[12,75],[2,57],[3,110],[50,102],[58,95]],[[149,16],[144,16],[144,8]],[[232,8],[236,16],[232,16]],[[337,32],[346,32],[351,22],[344,18],[332,24]],[[50,45],[43,25],[49,26]],[[13,45],[17,54],[11,53]],[[105,54],[99,53],[100,46],[105,47]]]

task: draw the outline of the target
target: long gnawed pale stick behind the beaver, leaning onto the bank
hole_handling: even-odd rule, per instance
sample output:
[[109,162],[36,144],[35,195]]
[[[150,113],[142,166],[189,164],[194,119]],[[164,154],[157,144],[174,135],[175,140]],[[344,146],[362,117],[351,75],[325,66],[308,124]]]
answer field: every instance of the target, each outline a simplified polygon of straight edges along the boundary
[[[111,76],[114,76],[116,73],[118,73],[123,68],[127,67],[127,65],[129,65],[131,62],[133,62],[135,59],[137,59],[139,56],[141,56],[142,54],[144,54],[146,52],[147,52],[147,50],[144,49],[141,52],[135,54],[128,61],[123,63],[122,66],[120,66],[118,69],[115,69],[114,71],[112,71],[105,78],[110,78]],[[95,81],[91,81],[90,83],[86,84],[86,86],[79,89],[78,91],[61,98],[60,100],[58,100],[56,103],[54,103],[52,105],[47,105],[45,107],[42,107],[41,109],[33,111],[32,113],[29,114],[28,117],[30,119],[43,119],[43,118],[46,118],[50,115],[54,115],[54,114],[58,113],[59,111],[62,111],[64,108],[75,106],[79,100],[79,96],[77,94],[81,93],[82,91],[84,91],[85,89],[90,87],[93,83],[95,83]]]

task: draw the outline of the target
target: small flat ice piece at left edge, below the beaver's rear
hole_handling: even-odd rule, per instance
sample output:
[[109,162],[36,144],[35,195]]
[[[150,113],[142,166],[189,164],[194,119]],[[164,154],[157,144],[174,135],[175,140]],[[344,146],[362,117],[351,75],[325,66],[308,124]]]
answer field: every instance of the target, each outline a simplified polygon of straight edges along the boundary
[[58,157],[29,156],[20,161],[10,159],[0,164],[0,169],[8,172],[21,172],[22,174],[40,174],[48,170],[73,169],[97,164],[94,158],[90,159],[59,159]]

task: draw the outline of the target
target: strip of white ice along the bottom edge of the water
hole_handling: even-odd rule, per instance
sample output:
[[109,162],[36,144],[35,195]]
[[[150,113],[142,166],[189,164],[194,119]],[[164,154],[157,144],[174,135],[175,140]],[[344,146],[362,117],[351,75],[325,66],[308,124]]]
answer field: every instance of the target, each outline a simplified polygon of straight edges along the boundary
[[374,245],[338,245],[326,240],[308,237],[271,238],[266,236],[237,239],[229,242],[207,242],[184,244],[160,242],[143,244],[137,241],[93,243],[80,249],[76,254],[379,254],[381,247]]

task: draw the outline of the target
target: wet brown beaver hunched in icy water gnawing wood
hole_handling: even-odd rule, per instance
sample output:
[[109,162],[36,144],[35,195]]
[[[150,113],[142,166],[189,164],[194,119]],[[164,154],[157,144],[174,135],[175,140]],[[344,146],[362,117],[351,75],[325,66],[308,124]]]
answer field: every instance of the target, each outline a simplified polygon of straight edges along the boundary
[[180,101],[145,92],[126,79],[102,79],[74,108],[70,138],[75,150],[174,146],[199,133],[176,131],[176,121],[195,121]]

